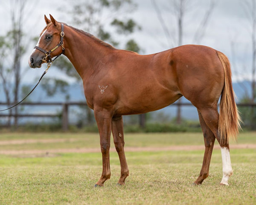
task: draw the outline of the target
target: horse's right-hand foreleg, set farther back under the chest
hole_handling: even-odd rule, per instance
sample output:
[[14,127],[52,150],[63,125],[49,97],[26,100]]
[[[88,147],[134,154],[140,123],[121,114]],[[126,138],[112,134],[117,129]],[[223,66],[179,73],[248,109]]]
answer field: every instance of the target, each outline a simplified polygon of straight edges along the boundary
[[116,152],[118,153],[120,165],[121,165],[121,176],[118,181],[118,184],[124,185],[125,179],[129,175],[129,170],[128,170],[127,162],[125,159],[125,151],[124,151],[125,141],[124,141],[122,116],[116,116],[112,118],[111,129],[113,133]]

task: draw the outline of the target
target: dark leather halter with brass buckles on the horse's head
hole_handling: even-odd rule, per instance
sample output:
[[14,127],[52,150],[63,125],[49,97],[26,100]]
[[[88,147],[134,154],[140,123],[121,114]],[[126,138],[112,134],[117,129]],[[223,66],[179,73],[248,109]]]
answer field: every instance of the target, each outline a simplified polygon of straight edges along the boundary
[[[35,47],[34,47],[34,49],[38,49],[38,50],[40,50],[41,52],[43,52],[43,53],[46,55],[46,57],[44,57],[44,58],[42,59],[42,61],[44,61],[45,63],[47,63],[48,68],[51,66],[52,62],[56,60],[56,58],[58,58],[61,54],[64,54],[64,52],[65,52],[64,42],[63,42],[63,37],[64,37],[65,33],[64,33],[64,25],[63,25],[63,23],[61,23],[61,33],[60,33],[60,35],[61,35],[61,40],[60,40],[60,42],[58,43],[57,46],[55,46],[55,47],[54,47],[53,49],[51,49],[50,51],[46,51],[46,50],[44,50],[44,49],[42,49],[42,48],[40,48],[40,47],[38,47],[38,46],[35,46]],[[52,58],[51,58],[51,52],[55,51],[55,50],[58,49],[58,47],[60,47],[60,46],[62,47],[62,52],[61,52],[61,54],[57,55],[54,59],[52,59]],[[48,61],[47,61],[47,57],[48,57]],[[47,70],[48,70],[48,68],[47,68]]]

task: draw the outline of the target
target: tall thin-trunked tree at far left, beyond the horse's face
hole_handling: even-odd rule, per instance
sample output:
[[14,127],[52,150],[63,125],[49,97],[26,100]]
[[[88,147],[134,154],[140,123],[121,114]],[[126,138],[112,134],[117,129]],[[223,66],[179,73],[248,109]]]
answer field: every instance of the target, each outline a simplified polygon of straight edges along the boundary
[[[20,62],[25,53],[23,43],[23,22],[24,22],[24,9],[26,7],[26,0],[15,0],[13,2],[15,6],[11,7],[11,30],[7,32],[6,36],[1,37],[2,43],[0,43],[0,79],[3,84],[3,90],[6,95],[7,104],[11,103],[11,94],[14,95],[14,103],[18,102],[20,92]],[[6,53],[9,57],[7,58]],[[14,81],[13,86],[11,81]],[[17,107],[15,111],[15,127],[17,127]],[[12,111],[9,111],[11,114]],[[8,120],[10,125],[10,118]]]

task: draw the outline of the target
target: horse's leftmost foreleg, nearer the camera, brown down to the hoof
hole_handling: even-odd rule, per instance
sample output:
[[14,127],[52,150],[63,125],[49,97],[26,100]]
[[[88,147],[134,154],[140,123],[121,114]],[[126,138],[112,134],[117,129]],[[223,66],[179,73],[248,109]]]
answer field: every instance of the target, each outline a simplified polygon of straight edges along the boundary
[[107,179],[110,179],[109,148],[111,136],[111,118],[108,111],[94,111],[95,119],[99,128],[100,147],[102,152],[102,176],[95,186],[103,186]]

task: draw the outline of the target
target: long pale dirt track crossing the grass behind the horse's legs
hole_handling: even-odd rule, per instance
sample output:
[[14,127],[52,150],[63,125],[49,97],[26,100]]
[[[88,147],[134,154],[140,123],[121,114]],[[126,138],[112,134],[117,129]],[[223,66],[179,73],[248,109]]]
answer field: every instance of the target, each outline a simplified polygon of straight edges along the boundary
[[[214,149],[220,149],[215,146]],[[256,149],[256,144],[232,144],[230,149]],[[204,150],[204,145],[179,145],[168,147],[125,147],[126,152],[141,152],[141,151],[171,151],[171,150]],[[111,152],[116,151],[115,148],[110,148]],[[30,155],[30,156],[55,156],[55,153],[96,153],[100,152],[99,148],[63,148],[49,150],[0,150],[0,154],[4,155]]]

